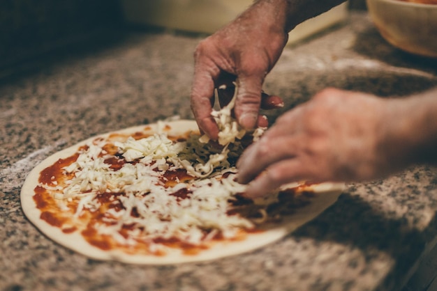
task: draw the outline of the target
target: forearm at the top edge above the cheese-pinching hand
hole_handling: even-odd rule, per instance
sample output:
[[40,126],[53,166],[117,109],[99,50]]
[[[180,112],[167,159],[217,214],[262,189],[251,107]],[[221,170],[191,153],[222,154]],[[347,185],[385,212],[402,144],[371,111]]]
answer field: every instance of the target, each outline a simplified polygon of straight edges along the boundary
[[263,6],[265,11],[272,11],[274,19],[286,32],[304,22],[306,19],[320,15],[346,0],[257,0],[253,6]]

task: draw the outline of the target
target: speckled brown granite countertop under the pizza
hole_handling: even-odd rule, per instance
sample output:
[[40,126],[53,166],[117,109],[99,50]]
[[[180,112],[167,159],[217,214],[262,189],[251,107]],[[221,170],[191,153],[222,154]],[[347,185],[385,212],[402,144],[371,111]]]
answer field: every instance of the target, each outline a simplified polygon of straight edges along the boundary
[[[192,118],[199,37],[124,33],[110,45],[0,84],[0,290],[399,290],[437,237],[437,171],[419,166],[348,184],[323,214],[279,242],[212,262],[89,260],[24,217],[20,187],[38,162],[95,134]],[[437,62],[387,44],[362,13],[287,47],[265,91],[285,111],[326,86],[403,96],[437,86]],[[269,113],[273,121],[280,112]]]

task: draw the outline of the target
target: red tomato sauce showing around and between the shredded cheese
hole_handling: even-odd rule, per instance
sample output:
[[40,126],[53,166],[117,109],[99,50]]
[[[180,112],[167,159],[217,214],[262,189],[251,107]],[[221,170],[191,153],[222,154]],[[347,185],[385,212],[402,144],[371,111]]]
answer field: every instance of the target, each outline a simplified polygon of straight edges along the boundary
[[[142,132],[135,133],[134,139],[141,139],[149,136],[149,134],[145,134]],[[125,136],[112,134],[110,135],[110,139],[112,141],[116,141],[118,139],[126,139]],[[186,136],[173,136],[172,139],[183,141],[188,139],[188,134]],[[82,150],[86,149],[86,147],[82,147]],[[113,145],[112,142],[108,143],[103,147],[105,152],[110,153],[110,155],[114,155],[114,157],[109,157],[105,159],[105,164],[109,164],[110,168],[113,171],[118,171],[124,164],[126,164],[126,160],[123,159],[121,155],[117,155],[117,147]],[[73,162],[77,160],[79,156],[78,153],[75,153],[71,157],[67,157],[65,159],[59,159],[57,162],[54,162],[52,166],[48,166],[40,173],[40,177],[38,182],[42,184],[47,184],[51,187],[64,183],[68,178],[71,178],[73,174],[66,173],[63,168],[71,165]],[[227,178],[230,173],[225,173],[223,178]],[[195,179],[193,176],[188,175],[186,170],[177,169],[175,171],[165,171],[161,178],[161,182],[165,185],[165,187],[173,187],[175,184],[180,182],[186,182],[188,180]],[[114,194],[114,193],[101,193],[96,195],[96,200],[100,207],[97,210],[89,210],[87,212],[82,212],[80,217],[74,217],[74,214],[77,209],[78,200],[72,200],[70,202],[64,201],[67,203],[69,210],[64,212],[59,209],[57,205],[57,200],[55,200],[50,193],[44,188],[37,186],[35,189],[34,201],[36,203],[36,207],[41,211],[40,219],[47,221],[51,226],[55,226],[60,228],[64,233],[75,233],[80,232],[82,237],[89,242],[89,244],[98,247],[102,250],[111,250],[111,249],[121,249],[126,253],[147,253],[153,255],[165,255],[165,253],[158,249],[156,251],[149,251],[149,246],[151,242],[145,238],[136,237],[134,239],[135,244],[121,244],[114,237],[110,235],[103,235],[98,233],[98,227],[101,224],[106,224],[106,226],[110,227],[114,224],[114,221],[108,221],[108,218],[111,217],[111,214],[108,214],[108,210],[112,212],[119,212],[124,210],[124,205],[118,200],[118,196],[124,194]],[[283,191],[279,195],[279,202],[274,203],[273,206],[269,206],[267,208],[267,212],[269,214],[274,215],[275,213],[288,213],[290,214],[293,211],[293,208],[304,205],[304,203],[309,203],[309,199],[311,195],[302,192],[301,194],[297,194],[296,189],[291,189],[288,191]],[[299,191],[300,193],[300,191]],[[310,193],[310,192],[309,192]],[[170,195],[176,196],[178,199],[187,199],[190,198],[192,191],[188,188],[182,188],[175,193]],[[228,212],[230,215],[240,214],[246,215],[246,217],[256,217],[258,214],[258,207],[253,204],[253,200],[244,198],[243,196],[235,196],[235,200],[229,201],[232,207],[232,210]],[[133,207],[130,213],[131,217],[140,217],[140,213],[136,207]],[[114,217],[112,217],[114,218]],[[107,219],[107,220],[105,220]],[[139,226],[136,226],[135,223],[124,224],[119,230],[119,234],[128,239],[129,232],[133,229],[142,229]],[[204,238],[211,236],[212,230],[204,230]],[[182,250],[182,252],[186,255],[196,255],[200,253],[200,251],[208,249],[211,244],[215,242],[220,242],[223,240],[241,240],[246,238],[248,233],[257,233],[262,230],[253,229],[253,230],[240,230],[238,235],[234,239],[225,239],[221,232],[217,232],[213,237],[211,242],[205,242],[200,245],[193,245],[187,242],[183,242],[181,239],[177,239],[175,237],[171,237],[169,239],[164,238],[156,238],[153,239],[152,242],[154,244],[162,244],[164,246],[168,246],[170,248]]]

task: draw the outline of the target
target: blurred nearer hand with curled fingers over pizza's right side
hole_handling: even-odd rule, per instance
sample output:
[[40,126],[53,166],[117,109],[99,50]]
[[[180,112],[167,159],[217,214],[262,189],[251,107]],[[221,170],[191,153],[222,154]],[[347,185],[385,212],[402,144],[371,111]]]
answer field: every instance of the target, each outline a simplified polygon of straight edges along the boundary
[[289,182],[370,180],[395,171],[405,161],[390,153],[402,148],[387,134],[399,122],[392,103],[325,89],[284,113],[237,163],[239,182],[250,182],[246,196]]

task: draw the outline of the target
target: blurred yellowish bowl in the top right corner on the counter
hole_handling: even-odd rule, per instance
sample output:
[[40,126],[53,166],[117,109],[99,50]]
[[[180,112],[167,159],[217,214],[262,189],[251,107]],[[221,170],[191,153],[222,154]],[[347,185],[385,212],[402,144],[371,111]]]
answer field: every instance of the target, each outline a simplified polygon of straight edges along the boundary
[[406,52],[437,57],[437,0],[410,1],[366,3],[373,23],[387,42]]

